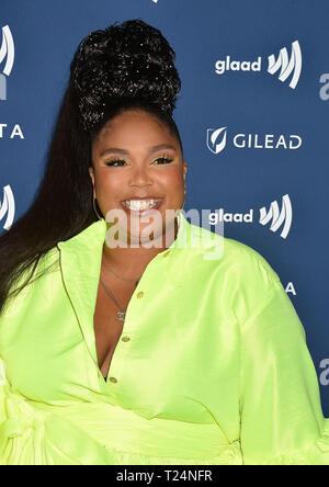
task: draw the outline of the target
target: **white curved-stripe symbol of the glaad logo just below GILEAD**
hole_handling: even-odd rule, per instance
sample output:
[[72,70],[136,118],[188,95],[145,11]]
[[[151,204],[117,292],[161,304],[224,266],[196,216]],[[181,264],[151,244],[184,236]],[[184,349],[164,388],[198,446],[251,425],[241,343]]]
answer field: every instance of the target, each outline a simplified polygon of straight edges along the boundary
[[276,231],[281,227],[281,225],[284,224],[283,229],[280,234],[282,238],[286,238],[286,236],[291,229],[292,219],[293,219],[292,203],[291,203],[290,196],[287,194],[285,194],[282,197],[281,212],[279,211],[279,205],[277,205],[276,201],[273,201],[271,203],[271,206],[270,206],[270,209],[268,213],[266,213],[266,209],[264,206],[260,209],[259,223],[261,225],[266,225],[270,220],[272,220],[271,226],[270,226],[270,230]]

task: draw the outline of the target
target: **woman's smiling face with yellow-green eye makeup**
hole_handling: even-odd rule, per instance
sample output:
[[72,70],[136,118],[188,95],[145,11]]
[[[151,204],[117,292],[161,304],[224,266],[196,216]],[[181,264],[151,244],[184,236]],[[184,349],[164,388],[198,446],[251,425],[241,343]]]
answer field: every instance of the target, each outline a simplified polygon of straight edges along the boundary
[[[143,228],[151,222],[141,218],[141,212],[154,204],[161,217],[160,223],[156,220],[154,238],[164,235],[166,211],[181,207],[188,169],[180,143],[169,128],[152,114],[127,110],[102,127],[91,155],[89,173],[104,217],[111,209],[125,212],[128,239],[138,237],[139,241]],[[139,199],[145,202],[137,203]],[[136,218],[138,236],[133,235]],[[122,218],[118,227],[124,223]]]

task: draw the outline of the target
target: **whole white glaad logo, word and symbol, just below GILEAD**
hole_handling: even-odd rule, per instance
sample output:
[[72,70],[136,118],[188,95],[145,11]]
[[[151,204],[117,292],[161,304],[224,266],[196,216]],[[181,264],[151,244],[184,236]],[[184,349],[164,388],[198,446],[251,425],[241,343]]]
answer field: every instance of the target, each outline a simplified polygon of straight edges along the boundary
[[[265,207],[260,208],[259,223],[261,225],[266,225],[270,220],[272,220],[270,227],[270,230],[272,231],[276,231],[281,225],[284,224],[280,236],[282,238],[286,238],[292,225],[293,212],[288,194],[285,194],[282,201],[283,207],[281,212],[279,211],[276,201],[271,203],[271,207],[268,213]],[[217,225],[218,222],[253,223],[253,209],[251,208],[247,213],[226,213],[224,208],[219,208],[217,213],[215,212],[208,215],[209,225]]]

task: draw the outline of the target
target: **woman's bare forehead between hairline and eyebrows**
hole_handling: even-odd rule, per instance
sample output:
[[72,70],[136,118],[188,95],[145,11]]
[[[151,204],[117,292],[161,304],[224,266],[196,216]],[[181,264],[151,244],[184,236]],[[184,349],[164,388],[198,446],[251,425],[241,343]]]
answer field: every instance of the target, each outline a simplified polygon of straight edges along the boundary
[[94,139],[93,147],[101,149],[114,140],[125,146],[150,146],[164,141],[178,145],[160,118],[141,110],[125,111],[106,122]]

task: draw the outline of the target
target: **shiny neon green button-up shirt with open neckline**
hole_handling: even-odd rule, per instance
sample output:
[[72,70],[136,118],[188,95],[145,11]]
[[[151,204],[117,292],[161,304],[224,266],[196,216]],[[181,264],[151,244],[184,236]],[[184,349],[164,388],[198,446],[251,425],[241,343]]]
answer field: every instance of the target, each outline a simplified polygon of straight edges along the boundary
[[47,252],[52,272],[7,302],[0,464],[329,465],[317,374],[277,274],[178,218],[134,291],[106,382],[93,329],[104,219]]

